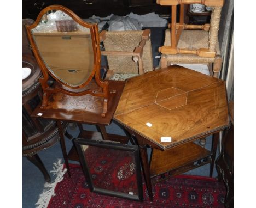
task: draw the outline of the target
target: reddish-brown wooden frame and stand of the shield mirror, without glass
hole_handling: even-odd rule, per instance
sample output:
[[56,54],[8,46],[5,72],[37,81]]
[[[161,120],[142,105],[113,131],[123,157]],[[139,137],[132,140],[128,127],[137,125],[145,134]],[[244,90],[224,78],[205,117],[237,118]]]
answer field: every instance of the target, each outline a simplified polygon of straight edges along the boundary
[[[61,10],[64,13],[66,13],[67,15],[69,15],[70,17],[72,17],[72,19],[75,22],[77,22],[79,25],[90,29],[91,40],[92,40],[92,49],[94,52],[94,66],[93,66],[93,69],[91,71],[89,78],[86,81],[84,81],[84,83],[82,83],[78,86],[68,85],[67,83],[63,82],[60,78],[55,76],[55,74],[53,72],[51,72],[51,70],[48,69],[48,66],[46,66],[42,56],[40,55],[37,44],[33,38],[32,29],[36,28],[39,25],[39,22],[41,21],[43,15],[51,10]],[[102,109],[101,116],[105,117],[105,114],[107,113],[108,98],[109,98],[110,91],[109,91],[109,82],[103,81],[100,78],[101,51],[100,51],[100,37],[99,37],[99,33],[98,33],[97,24],[91,24],[91,23],[84,22],[73,11],[71,11],[70,9],[68,9],[66,7],[63,7],[62,5],[51,5],[49,7],[44,8],[42,11],[40,11],[36,21],[32,25],[27,25],[26,30],[27,30],[28,40],[30,41],[32,51],[34,53],[34,56],[36,57],[38,65],[43,74],[43,77],[39,78],[39,82],[42,85],[42,89],[43,89],[43,99],[42,99],[42,105],[40,106],[40,108],[45,109],[47,106],[48,98],[49,98],[50,94],[56,93],[58,91],[60,91],[63,94],[70,95],[70,96],[83,96],[83,95],[89,94],[92,96],[103,97],[103,109]],[[67,90],[67,89],[60,88],[60,87],[55,87],[55,88],[50,87],[49,84],[47,83],[49,80],[49,74],[57,82],[61,83],[62,85],[66,86],[68,88],[71,88],[71,90]],[[82,91],[81,90],[74,91],[75,89],[81,89],[81,88],[86,87],[86,85],[88,85],[91,82],[93,77],[95,77],[95,82],[98,85],[98,87],[102,88],[102,92],[98,92],[98,90],[97,90],[97,92],[95,93],[91,89],[85,89],[84,91],[83,90]],[[72,91],[72,89],[73,89],[73,91]],[[115,93],[115,90],[112,90],[111,93]]]

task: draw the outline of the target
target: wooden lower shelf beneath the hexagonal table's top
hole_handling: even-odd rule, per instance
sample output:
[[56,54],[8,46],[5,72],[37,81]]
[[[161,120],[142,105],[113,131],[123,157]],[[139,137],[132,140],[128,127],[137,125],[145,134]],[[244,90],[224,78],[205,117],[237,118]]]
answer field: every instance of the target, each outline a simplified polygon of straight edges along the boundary
[[[152,158],[150,161],[151,178],[170,172],[170,175],[177,175],[187,172],[195,166],[200,167],[211,162],[211,151],[202,148],[193,142],[175,146],[166,151],[153,149]],[[202,159],[205,159],[201,162]],[[199,163],[196,163],[200,161]]]

